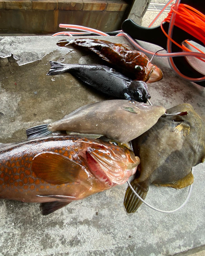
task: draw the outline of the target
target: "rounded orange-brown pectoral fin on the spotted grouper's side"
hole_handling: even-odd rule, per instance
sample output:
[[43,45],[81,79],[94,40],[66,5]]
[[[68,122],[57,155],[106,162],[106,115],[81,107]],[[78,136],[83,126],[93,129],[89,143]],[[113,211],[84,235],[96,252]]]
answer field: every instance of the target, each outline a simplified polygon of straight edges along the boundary
[[78,173],[80,164],[54,152],[42,152],[36,155],[32,162],[32,170],[51,184],[79,182]]

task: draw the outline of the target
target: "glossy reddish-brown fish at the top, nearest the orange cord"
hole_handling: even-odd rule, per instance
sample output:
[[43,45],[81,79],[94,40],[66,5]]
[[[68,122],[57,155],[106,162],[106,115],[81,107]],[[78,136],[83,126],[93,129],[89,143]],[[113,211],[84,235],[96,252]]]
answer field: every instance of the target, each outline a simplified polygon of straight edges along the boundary
[[57,45],[61,47],[75,45],[89,49],[115,66],[122,74],[134,80],[156,82],[163,78],[162,71],[152,65],[144,53],[131,50],[127,45],[92,38],[64,39],[58,41]]

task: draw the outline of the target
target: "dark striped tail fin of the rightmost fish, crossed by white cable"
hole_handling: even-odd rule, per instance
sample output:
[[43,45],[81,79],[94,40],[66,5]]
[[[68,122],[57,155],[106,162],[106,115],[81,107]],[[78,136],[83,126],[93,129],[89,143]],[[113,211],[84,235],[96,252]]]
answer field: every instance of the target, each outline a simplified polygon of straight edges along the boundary
[[[147,196],[147,191],[143,191],[138,184],[135,184],[133,181],[130,183],[135,192],[144,200]],[[131,212],[135,212],[142,204],[142,201],[135,196],[130,186],[128,186],[125,198],[124,198],[124,206],[128,214]]]

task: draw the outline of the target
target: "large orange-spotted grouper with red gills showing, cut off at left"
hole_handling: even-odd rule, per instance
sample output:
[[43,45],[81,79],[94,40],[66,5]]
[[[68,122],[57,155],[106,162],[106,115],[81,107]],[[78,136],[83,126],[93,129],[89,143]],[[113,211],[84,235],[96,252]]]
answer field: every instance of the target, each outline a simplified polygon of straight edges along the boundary
[[140,163],[116,145],[55,136],[0,146],[0,198],[41,203],[43,215],[123,184]]

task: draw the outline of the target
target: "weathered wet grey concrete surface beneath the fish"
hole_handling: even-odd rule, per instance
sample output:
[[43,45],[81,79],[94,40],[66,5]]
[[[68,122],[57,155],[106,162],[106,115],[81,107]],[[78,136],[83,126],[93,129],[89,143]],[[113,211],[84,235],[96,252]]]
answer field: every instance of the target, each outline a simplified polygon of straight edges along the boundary
[[[69,73],[47,76],[49,60],[64,63],[104,63],[94,54],[60,48],[62,37],[0,37],[0,142],[26,139],[28,127],[64,117],[82,105],[109,99],[86,87]],[[102,38],[102,37],[101,37]],[[105,38],[124,42],[122,37]],[[144,44],[155,51],[155,46]],[[12,54],[12,56],[10,56]],[[10,56],[10,57],[8,57]],[[153,63],[164,73],[148,84],[151,102],[171,108],[190,103],[204,116],[205,89],[177,77],[166,58]],[[127,184],[76,201],[47,217],[39,205],[0,201],[0,255],[189,255],[205,247],[205,164],[193,168],[194,184],[188,204],[173,214],[142,205],[126,214]],[[151,186],[146,201],[165,210],[186,199],[188,188]]]

